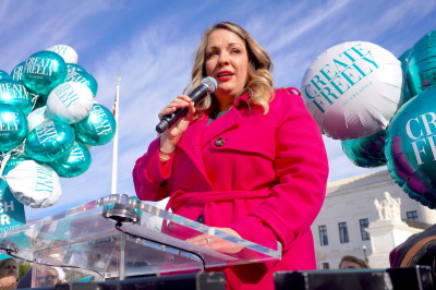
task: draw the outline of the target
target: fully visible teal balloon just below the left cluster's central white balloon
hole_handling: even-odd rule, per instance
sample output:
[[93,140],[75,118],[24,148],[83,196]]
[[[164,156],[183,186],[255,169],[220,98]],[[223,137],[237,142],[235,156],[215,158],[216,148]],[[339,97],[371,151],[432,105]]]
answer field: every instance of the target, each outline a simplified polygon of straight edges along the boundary
[[40,162],[51,162],[65,154],[74,143],[71,125],[47,120],[33,129],[25,142],[25,153]]

